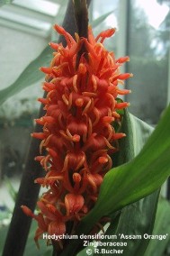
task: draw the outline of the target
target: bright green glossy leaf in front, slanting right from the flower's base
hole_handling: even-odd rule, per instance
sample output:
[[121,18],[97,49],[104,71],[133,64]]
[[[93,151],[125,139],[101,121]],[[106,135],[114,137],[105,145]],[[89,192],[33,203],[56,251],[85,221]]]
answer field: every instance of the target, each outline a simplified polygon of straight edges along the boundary
[[[169,116],[170,106],[139,155],[105,175],[98,200],[92,211],[78,225],[78,234],[88,233],[103,215],[110,215],[148,196],[165,182],[170,175]],[[70,251],[70,248],[74,253],[77,245],[77,241],[72,242],[61,255]]]

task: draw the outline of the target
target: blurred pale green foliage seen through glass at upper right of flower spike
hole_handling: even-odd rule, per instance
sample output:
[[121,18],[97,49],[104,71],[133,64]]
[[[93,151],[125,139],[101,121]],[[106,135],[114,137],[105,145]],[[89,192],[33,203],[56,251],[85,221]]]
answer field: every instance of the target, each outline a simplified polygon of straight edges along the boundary
[[[170,7],[168,1],[157,2]],[[148,23],[145,10],[132,2],[129,12],[128,54],[131,61],[128,70],[135,75],[128,81],[133,92],[128,96],[131,112],[147,123],[156,124],[169,101],[170,13],[166,13],[158,27],[153,27]]]

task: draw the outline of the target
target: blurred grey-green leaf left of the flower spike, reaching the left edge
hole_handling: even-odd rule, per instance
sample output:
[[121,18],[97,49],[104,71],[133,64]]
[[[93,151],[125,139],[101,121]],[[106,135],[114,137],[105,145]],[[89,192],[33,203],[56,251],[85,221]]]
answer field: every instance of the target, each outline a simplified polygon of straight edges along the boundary
[[44,74],[40,72],[39,68],[41,66],[49,66],[51,57],[52,50],[48,46],[40,53],[40,56],[37,59],[31,61],[13,85],[0,91],[0,105],[3,104],[8,97],[13,96],[22,89],[31,86],[33,83],[40,80],[40,78],[43,78]]

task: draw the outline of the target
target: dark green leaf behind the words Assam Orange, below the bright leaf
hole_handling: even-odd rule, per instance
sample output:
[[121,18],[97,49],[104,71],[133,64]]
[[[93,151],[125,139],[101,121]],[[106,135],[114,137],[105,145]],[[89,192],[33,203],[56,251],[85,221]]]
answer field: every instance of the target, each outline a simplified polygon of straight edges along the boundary
[[[144,251],[146,251],[149,240],[144,239],[143,235],[145,233],[152,233],[157,212],[158,197],[159,190],[130,206],[124,207],[116,229],[115,220],[113,219],[112,224],[105,234],[115,234],[117,239],[114,242],[127,242],[126,247],[115,247],[117,250],[123,249],[122,255],[142,256]],[[134,235],[134,239],[123,239],[120,234]],[[109,246],[103,248],[107,250],[111,249]],[[103,255],[107,254],[103,253]]]

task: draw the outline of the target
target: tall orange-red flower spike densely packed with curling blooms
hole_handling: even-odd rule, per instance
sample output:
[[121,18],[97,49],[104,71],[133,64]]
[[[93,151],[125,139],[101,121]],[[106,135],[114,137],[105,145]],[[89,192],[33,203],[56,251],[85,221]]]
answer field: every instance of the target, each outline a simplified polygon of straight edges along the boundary
[[[115,29],[94,38],[89,27],[88,39],[76,34],[76,41],[62,27],[55,25],[55,29],[65,37],[67,47],[50,43],[56,50],[54,58],[49,67],[40,69],[46,73],[43,89],[47,96],[39,98],[46,114],[36,122],[43,131],[32,133],[41,140],[40,153],[46,150],[35,160],[47,174],[35,182],[49,190],[38,202],[39,215],[22,206],[25,214],[38,221],[36,241],[44,232],[66,233],[67,221],[76,224],[94,206],[103,177],[112,168],[109,154],[125,136],[112,126],[121,120],[117,110],[129,105],[117,101],[119,95],[130,93],[118,85],[132,76],[120,73],[129,57],[115,59],[114,53],[103,47],[104,39]],[[78,58],[83,45],[87,52]]]

